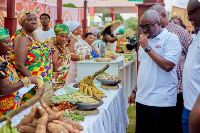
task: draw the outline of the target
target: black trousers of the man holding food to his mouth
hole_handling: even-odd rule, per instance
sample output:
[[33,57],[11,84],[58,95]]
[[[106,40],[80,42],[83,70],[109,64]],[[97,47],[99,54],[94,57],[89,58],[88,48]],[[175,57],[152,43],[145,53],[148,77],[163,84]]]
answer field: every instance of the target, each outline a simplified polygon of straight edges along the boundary
[[176,107],[136,103],[136,133],[177,133]]

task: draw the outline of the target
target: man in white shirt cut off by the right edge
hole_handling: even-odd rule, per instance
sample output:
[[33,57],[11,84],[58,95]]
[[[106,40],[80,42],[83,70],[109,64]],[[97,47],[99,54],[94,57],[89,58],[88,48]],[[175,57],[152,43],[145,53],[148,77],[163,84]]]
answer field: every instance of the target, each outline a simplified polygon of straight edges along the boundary
[[[200,29],[200,2],[190,0],[187,6],[188,19],[195,29]],[[183,68],[183,132],[188,133],[188,119],[195,101],[200,93],[200,32],[188,49]],[[200,111],[200,110],[199,110]],[[200,113],[200,112],[199,112]],[[198,115],[198,114],[196,114]]]

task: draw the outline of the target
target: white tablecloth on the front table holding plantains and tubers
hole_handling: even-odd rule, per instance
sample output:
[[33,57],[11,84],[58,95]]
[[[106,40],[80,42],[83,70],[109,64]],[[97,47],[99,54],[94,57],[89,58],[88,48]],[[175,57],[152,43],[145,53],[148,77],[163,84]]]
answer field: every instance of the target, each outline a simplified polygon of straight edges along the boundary
[[[125,105],[124,93],[120,85],[117,90],[104,90],[100,88],[100,84],[95,84],[107,97],[103,98],[103,105],[98,107],[97,115],[86,116],[80,124],[84,130],[82,133],[126,133],[128,125],[128,116]],[[72,87],[72,84],[69,85]],[[59,89],[55,92],[56,95],[65,94],[64,89]],[[40,105],[39,102],[36,105]],[[12,126],[17,125],[24,115],[31,111],[31,107],[22,111],[12,118]],[[0,127],[4,123],[0,123]]]

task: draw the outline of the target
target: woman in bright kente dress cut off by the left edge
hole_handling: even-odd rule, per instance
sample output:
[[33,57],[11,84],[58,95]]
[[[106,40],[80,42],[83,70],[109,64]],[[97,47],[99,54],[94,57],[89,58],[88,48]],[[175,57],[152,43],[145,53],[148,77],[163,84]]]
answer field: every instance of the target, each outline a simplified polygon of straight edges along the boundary
[[[0,66],[3,62],[7,62],[2,55],[9,55],[12,45],[10,44],[10,35],[8,29],[0,27]],[[16,109],[21,102],[18,90],[24,87],[25,81],[37,84],[35,77],[19,78],[12,64],[8,65],[0,73],[3,75],[0,78],[0,117]]]

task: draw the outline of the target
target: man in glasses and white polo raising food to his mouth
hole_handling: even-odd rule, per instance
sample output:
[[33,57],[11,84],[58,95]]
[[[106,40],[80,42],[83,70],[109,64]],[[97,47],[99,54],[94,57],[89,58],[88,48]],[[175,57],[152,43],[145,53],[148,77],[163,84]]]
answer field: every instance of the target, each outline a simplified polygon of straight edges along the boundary
[[161,28],[157,11],[146,11],[139,29],[141,45],[138,51],[139,70],[136,90],[136,133],[176,133],[175,106],[177,73],[181,45],[179,38]]

